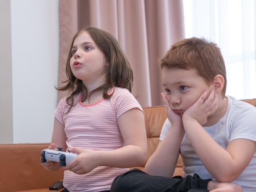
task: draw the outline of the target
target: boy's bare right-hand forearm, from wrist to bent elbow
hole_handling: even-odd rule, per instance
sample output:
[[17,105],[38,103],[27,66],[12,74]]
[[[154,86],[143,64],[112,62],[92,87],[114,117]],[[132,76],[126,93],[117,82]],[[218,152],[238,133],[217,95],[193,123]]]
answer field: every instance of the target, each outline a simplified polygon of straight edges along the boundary
[[231,182],[236,179],[232,174],[236,172],[236,167],[231,154],[220,146],[198,122],[184,122],[184,129],[196,154],[213,178],[222,182]]

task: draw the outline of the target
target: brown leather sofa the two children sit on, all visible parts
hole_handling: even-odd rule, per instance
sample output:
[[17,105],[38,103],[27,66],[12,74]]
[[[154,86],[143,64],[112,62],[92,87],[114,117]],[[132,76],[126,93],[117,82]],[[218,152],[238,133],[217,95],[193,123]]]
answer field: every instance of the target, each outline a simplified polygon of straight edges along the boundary
[[[256,107],[256,99],[244,100]],[[155,152],[162,125],[166,120],[164,106],[145,107],[148,154]],[[47,171],[40,164],[40,152],[49,143],[25,143],[0,145],[0,192],[54,192],[49,186],[63,179],[63,170]],[[132,169],[131,167],[130,169]],[[142,167],[137,167],[144,170]],[[182,175],[182,160],[179,158],[174,175]]]

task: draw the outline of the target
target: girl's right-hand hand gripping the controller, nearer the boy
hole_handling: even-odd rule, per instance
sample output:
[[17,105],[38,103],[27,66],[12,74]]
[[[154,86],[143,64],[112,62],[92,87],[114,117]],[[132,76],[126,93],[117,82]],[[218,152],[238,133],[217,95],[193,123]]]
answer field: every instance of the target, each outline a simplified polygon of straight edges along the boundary
[[79,147],[72,147],[69,152],[78,154],[78,156],[71,161],[63,170],[70,170],[76,174],[86,174],[92,171],[94,168],[102,165],[100,161],[104,161],[104,158],[100,158],[100,154],[106,151],[95,151],[89,149],[82,149]]

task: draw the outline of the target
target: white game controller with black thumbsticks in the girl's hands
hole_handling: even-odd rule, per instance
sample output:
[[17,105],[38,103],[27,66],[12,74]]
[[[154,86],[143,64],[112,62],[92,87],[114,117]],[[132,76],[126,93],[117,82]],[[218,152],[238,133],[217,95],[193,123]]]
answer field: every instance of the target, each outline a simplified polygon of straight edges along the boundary
[[66,166],[72,161],[77,154],[72,152],[64,152],[62,148],[58,147],[58,150],[45,149],[41,151],[41,163],[56,161],[60,163],[60,166]]

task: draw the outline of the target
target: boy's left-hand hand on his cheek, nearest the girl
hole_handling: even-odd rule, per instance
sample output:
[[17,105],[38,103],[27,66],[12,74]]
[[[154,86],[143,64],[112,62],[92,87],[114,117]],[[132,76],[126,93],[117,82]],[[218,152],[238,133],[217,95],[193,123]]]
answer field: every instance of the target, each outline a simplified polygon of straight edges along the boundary
[[161,93],[161,96],[163,98],[164,101],[164,107],[165,107],[165,111],[166,111],[166,115],[169,119],[169,121],[171,122],[172,125],[177,125],[177,126],[182,126],[183,127],[183,123],[182,123],[182,118],[179,114],[176,114],[173,109],[171,109],[171,105],[168,101],[168,99],[166,98],[166,94]]

